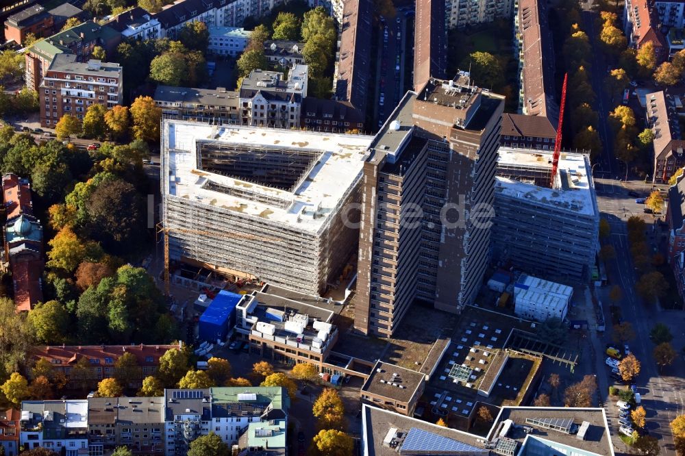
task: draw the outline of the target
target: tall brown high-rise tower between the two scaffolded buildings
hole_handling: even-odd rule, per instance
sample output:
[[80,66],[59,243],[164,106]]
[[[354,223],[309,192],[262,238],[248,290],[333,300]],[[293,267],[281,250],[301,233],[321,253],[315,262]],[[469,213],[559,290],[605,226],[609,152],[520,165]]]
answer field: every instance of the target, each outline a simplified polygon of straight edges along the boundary
[[416,299],[448,312],[475,299],[488,264],[502,111],[503,97],[462,72],[408,92],[375,136],[362,181],[354,318],[362,333],[392,335]]

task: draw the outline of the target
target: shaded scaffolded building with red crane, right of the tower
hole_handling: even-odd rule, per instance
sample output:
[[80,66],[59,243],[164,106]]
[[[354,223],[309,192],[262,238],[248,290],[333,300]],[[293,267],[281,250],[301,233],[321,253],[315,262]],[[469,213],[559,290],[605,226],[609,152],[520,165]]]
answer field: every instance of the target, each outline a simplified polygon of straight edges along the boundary
[[[559,279],[588,279],[599,210],[584,153],[499,148],[493,250],[501,266]],[[553,181],[553,185],[550,183]]]

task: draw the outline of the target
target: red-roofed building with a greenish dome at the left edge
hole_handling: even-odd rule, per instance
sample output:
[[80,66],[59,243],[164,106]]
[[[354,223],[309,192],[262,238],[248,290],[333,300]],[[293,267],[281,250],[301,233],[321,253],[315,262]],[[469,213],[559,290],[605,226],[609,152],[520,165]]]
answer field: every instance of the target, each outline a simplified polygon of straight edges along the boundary
[[14,174],[2,177],[7,222],[3,227],[3,268],[12,272],[17,312],[28,312],[42,302],[43,231],[34,216],[31,184]]

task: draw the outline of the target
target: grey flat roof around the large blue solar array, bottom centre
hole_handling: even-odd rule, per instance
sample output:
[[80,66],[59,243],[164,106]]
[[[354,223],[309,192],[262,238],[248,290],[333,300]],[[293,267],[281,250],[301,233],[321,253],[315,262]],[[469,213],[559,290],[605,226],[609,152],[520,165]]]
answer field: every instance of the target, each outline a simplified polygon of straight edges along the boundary
[[[432,439],[433,442],[436,442],[438,440],[442,440],[442,442],[445,442],[445,440],[443,439],[447,438],[452,441],[448,442],[448,444],[450,444],[449,446],[463,446],[462,451],[464,453],[474,455],[487,455],[489,453],[489,451],[486,450],[483,447],[483,445],[479,442],[479,440],[482,440],[482,438],[478,437],[477,435],[465,433],[462,431],[458,431],[457,429],[451,429],[449,427],[434,425],[431,422],[417,420],[416,418],[401,415],[394,411],[380,409],[378,407],[373,407],[372,405],[364,404],[362,405],[362,454],[366,456],[397,456],[398,454],[443,454],[437,451],[438,447],[436,446],[427,446],[425,448],[425,453],[403,453],[402,445],[406,442],[406,440],[403,440],[399,445],[395,447],[391,447],[388,444],[384,444],[384,441],[388,439],[388,436],[390,436],[390,438],[393,437],[393,435],[391,435],[391,430],[394,430],[392,431],[392,434],[396,434],[398,432],[406,434],[412,431],[412,429],[423,431],[424,435],[425,433],[436,435],[436,438]],[[436,452],[430,453],[431,450]]]

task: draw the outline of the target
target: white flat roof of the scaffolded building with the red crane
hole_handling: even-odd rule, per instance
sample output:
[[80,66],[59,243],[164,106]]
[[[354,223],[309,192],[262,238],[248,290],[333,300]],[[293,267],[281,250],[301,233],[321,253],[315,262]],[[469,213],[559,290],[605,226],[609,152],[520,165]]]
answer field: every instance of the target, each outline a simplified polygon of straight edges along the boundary
[[[530,166],[551,171],[553,151],[499,147],[498,166]],[[594,186],[590,181],[589,160],[583,153],[562,152],[559,157],[555,188],[538,187],[533,183],[497,176],[495,192],[527,199],[575,214],[597,215]]]

